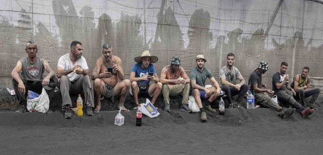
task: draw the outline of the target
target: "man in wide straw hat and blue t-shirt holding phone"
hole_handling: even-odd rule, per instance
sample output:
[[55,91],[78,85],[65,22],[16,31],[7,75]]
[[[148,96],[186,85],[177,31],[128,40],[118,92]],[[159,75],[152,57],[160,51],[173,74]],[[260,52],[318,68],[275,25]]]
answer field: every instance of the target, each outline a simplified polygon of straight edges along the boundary
[[154,104],[160,91],[162,84],[159,82],[155,67],[152,63],[156,63],[158,58],[150,56],[148,50],[144,50],[141,57],[136,57],[130,73],[131,89],[130,94],[133,95],[136,106],[138,103],[138,93],[149,95],[152,97],[151,104]]

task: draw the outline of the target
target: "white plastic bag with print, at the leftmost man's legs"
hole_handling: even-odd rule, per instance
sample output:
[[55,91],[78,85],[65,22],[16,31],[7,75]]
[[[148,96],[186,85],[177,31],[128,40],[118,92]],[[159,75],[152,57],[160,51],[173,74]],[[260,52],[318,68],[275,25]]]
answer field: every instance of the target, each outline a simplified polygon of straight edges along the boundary
[[[28,94],[37,94],[33,91],[28,90]],[[31,97],[28,95],[27,99],[27,110],[29,112],[41,112],[46,113],[49,109],[49,98],[45,88],[42,88],[41,94],[38,97]]]

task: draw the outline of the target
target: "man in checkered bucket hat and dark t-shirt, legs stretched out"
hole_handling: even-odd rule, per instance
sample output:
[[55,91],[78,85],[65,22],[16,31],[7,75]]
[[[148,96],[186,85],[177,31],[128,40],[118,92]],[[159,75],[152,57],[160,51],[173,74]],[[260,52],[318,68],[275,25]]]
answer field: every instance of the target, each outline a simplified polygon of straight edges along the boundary
[[261,107],[275,110],[276,114],[283,119],[288,118],[292,116],[295,109],[282,108],[276,104],[276,102],[267,94],[273,94],[274,91],[266,89],[266,84],[262,83],[262,74],[264,74],[268,68],[268,63],[260,62],[258,68],[250,74],[248,84],[252,94],[254,95],[255,103]]

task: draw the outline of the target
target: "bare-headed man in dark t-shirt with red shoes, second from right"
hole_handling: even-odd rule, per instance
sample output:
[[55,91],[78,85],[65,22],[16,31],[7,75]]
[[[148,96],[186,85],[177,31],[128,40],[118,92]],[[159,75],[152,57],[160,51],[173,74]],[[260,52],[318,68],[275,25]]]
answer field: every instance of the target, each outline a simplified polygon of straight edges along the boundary
[[282,101],[284,104],[288,106],[292,106],[296,109],[303,118],[311,115],[314,112],[314,109],[305,108],[300,105],[287,91],[291,90],[293,95],[296,94],[295,90],[289,84],[289,75],[286,74],[288,64],[286,62],[282,62],[280,66],[280,70],[273,75],[273,90],[275,91],[274,94],[277,95],[277,98]]

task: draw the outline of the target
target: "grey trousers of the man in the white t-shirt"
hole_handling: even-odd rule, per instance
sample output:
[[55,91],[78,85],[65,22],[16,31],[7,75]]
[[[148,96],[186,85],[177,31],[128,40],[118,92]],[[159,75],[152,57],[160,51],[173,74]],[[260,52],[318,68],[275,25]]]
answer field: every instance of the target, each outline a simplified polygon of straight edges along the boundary
[[84,92],[83,104],[85,104],[86,107],[94,108],[93,88],[88,75],[83,75],[74,82],[71,82],[67,76],[62,76],[59,86],[63,99],[62,109],[64,109],[66,106],[72,107],[70,93],[81,93],[82,90]]

